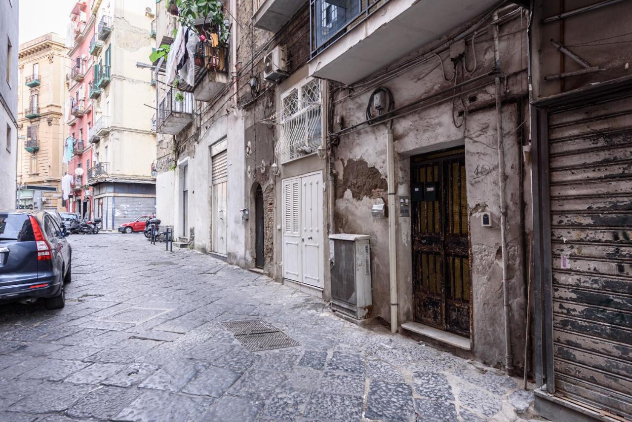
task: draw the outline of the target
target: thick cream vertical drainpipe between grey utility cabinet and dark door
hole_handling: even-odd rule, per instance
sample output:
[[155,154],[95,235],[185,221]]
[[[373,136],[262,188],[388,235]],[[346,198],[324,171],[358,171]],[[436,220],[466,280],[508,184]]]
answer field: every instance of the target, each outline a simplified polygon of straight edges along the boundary
[[[391,121],[392,123],[392,121]],[[389,126],[386,132],[386,161],[387,182],[389,193],[389,282],[391,285],[391,332],[398,329],[398,299],[397,299],[397,253],[396,253],[396,217],[395,212],[395,146],[393,145],[393,130]]]

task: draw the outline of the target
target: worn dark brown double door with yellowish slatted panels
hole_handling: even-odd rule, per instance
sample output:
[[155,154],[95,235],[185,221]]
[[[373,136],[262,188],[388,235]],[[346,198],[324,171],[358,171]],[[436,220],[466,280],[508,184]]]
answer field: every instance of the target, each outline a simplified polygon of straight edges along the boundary
[[463,147],[411,157],[415,320],[470,335],[470,255]]

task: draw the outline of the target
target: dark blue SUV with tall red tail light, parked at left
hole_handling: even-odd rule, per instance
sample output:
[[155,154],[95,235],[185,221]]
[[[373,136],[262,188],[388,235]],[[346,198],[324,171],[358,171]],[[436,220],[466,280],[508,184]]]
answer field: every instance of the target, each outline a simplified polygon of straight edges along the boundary
[[63,308],[72,277],[66,236],[44,210],[0,210],[0,302],[44,298],[46,308]]

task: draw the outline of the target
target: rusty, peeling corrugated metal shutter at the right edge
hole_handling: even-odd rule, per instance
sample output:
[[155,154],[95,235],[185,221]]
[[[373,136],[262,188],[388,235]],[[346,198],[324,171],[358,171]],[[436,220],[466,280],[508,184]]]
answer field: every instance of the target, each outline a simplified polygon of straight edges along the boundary
[[549,116],[556,394],[632,418],[632,97]]

